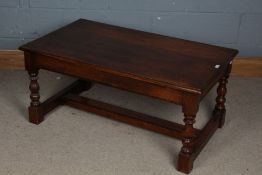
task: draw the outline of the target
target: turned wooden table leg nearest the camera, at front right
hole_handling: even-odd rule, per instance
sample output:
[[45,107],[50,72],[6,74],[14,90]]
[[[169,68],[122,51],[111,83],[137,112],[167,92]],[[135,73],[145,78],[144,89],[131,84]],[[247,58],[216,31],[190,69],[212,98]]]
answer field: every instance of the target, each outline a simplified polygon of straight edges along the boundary
[[193,127],[195,123],[196,113],[198,111],[198,98],[189,97],[184,100],[183,113],[184,113],[184,131],[182,139],[182,148],[178,157],[178,171],[189,173],[193,169],[193,156],[194,144],[196,133]]

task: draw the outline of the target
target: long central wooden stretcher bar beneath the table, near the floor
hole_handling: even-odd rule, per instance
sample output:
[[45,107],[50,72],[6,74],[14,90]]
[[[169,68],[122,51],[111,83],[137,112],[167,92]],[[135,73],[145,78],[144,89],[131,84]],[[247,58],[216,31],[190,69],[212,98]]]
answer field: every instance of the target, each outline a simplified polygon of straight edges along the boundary
[[[182,139],[181,132],[183,125],[173,123],[160,118],[152,117],[139,112],[131,111],[97,100],[81,97],[78,95],[67,94],[63,97],[64,104],[88,112],[96,113],[120,122],[152,130],[170,137]],[[198,133],[198,129],[194,129]]]

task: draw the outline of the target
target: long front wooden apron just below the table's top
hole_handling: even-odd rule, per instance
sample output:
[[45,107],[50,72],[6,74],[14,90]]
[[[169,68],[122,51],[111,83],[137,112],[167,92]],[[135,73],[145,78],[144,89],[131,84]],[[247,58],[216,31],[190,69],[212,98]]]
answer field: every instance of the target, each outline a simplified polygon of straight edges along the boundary
[[184,92],[180,90],[114,75],[113,73],[97,70],[94,66],[84,63],[68,62],[40,54],[34,55],[32,59],[34,59],[34,66],[39,69],[63,73],[118,89],[155,97],[175,104],[182,104]]

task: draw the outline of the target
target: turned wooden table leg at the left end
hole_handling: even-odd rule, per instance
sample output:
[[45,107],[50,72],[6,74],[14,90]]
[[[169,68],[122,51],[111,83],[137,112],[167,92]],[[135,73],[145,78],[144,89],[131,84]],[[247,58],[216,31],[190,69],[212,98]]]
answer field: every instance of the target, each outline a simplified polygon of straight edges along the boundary
[[43,113],[40,107],[40,94],[38,80],[38,70],[29,71],[30,76],[30,99],[31,103],[28,108],[29,110],[29,121],[34,124],[39,124],[43,121]]

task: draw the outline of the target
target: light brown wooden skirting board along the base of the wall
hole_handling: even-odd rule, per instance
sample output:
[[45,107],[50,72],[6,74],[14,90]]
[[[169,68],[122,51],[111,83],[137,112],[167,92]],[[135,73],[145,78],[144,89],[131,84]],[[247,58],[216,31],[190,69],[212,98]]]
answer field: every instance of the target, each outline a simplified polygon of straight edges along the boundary
[[[0,50],[0,69],[23,70],[23,52],[19,50]],[[262,57],[236,58],[233,61],[231,75],[262,77]]]

